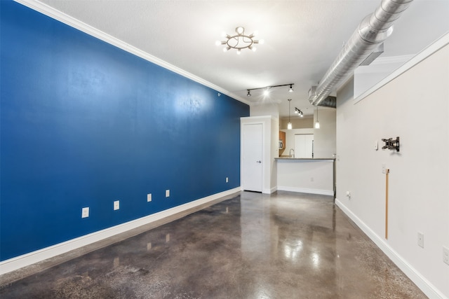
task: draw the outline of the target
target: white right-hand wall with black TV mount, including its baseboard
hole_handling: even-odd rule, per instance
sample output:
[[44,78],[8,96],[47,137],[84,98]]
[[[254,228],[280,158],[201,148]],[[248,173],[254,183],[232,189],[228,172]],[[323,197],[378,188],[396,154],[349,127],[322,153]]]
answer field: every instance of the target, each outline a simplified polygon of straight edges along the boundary
[[[448,103],[449,46],[356,104],[352,81],[337,92],[336,202],[430,298],[449,297]],[[399,153],[380,149],[389,137],[401,138]],[[391,171],[388,239],[382,163]]]

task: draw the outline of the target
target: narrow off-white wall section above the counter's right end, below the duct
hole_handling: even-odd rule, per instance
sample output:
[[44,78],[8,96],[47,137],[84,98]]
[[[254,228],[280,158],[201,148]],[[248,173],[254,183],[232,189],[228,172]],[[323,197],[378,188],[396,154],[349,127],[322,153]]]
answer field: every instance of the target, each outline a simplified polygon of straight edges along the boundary
[[[314,129],[314,158],[332,158],[336,151],[336,110],[318,107],[319,129]],[[314,124],[316,109],[314,112]]]

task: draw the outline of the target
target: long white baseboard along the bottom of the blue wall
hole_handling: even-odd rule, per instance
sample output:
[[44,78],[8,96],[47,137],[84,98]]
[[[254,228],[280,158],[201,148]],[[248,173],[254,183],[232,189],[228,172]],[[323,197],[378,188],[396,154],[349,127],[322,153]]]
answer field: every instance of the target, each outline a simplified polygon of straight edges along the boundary
[[112,226],[111,228],[106,228],[105,230],[99,230],[98,232],[92,232],[91,234],[88,234],[88,235],[77,237],[75,239],[70,239],[69,241],[66,241],[66,242],[55,244],[53,246],[48,246],[43,249],[39,249],[36,251],[32,251],[30,253],[23,254],[22,256],[16,256],[15,258],[10,258],[8,260],[4,260],[0,263],[0,275],[14,271],[14,270],[18,270],[21,267],[25,267],[27,265],[39,263],[42,260],[46,260],[48,258],[53,258],[55,256],[59,256],[62,253],[67,253],[74,249],[79,249],[83,246],[87,246],[89,244],[93,244],[94,242],[101,241],[102,239],[107,239],[108,237],[118,235],[122,232],[126,232],[126,231],[132,230],[134,228],[138,228],[142,225],[146,225],[146,224],[152,223],[154,221],[159,221],[163,218],[173,216],[182,211],[187,211],[188,209],[199,207],[201,204],[206,204],[213,200],[217,200],[220,197],[225,197],[225,196],[231,195],[233,193],[238,193],[240,190],[241,190],[240,187],[226,190],[226,191],[223,191],[220,193],[216,193],[214,195],[210,195],[208,197],[203,197],[199,200],[194,200],[193,202],[187,202],[186,204],[181,204],[180,206],[166,209],[165,211],[160,211],[158,213],[154,213],[149,216],[138,218],[133,221],[115,225],[115,226]]

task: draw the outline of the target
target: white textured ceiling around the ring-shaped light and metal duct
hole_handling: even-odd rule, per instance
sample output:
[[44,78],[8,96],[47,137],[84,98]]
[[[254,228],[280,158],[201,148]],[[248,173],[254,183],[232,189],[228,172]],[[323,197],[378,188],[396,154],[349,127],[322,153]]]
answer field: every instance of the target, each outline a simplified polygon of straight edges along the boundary
[[[380,0],[187,1],[42,0],[145,53],[199,76],[251,104],[279,103],[280,116],[291,106],[313,109],[307,91],[316,85],[359,22]],[[221,33],[257,30],[257,51],[227,53]],[[449,32],[449,0],[415,0],[394,25],[382,57],[415,55]],[[275,88],[269,97],[248,88],[295,83],[295,92]],[[258,95],[259,94],[259,95]],[[293,113],[293,112],[292,112]]]

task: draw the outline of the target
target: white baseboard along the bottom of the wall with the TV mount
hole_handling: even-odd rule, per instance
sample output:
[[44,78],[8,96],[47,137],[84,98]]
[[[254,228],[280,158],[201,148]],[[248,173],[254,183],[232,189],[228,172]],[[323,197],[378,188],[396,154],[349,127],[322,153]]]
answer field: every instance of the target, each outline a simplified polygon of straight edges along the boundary
[[395,263],[399,269],[404,272],[411,281],[413,281],[421,291],[429,298],[448,299],[441,291],[431,284],[425,277],[420,274],[412,265],[410,265],[402,256],[400,256],[394,249],[384,241],[382,237],[377,235],[371,228],[368,227],[360,218],[352,213],[340,200],[335,199],[335,204],[342,209],[344,214],[351,218],[354,223],[365,232],[366,235]]

